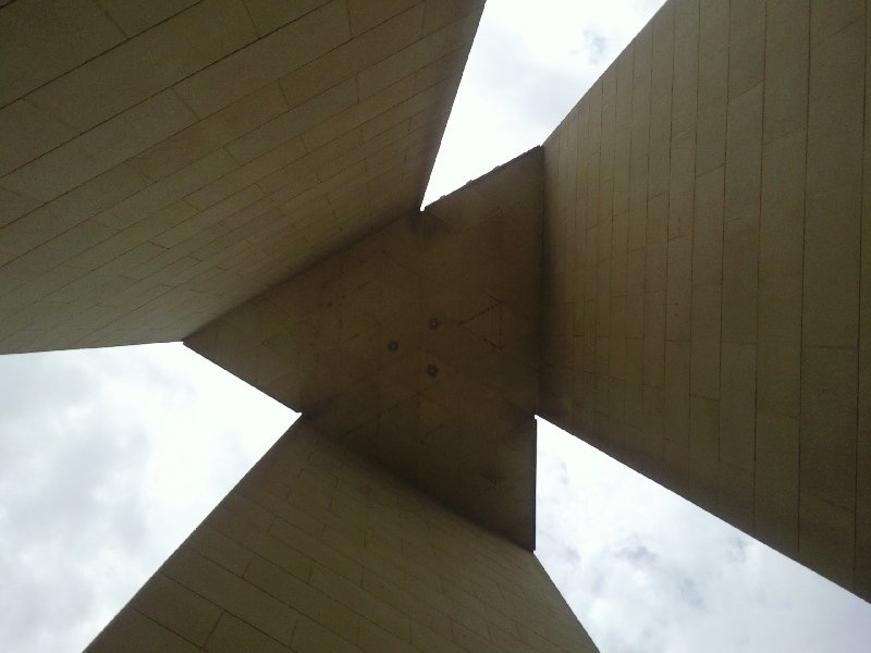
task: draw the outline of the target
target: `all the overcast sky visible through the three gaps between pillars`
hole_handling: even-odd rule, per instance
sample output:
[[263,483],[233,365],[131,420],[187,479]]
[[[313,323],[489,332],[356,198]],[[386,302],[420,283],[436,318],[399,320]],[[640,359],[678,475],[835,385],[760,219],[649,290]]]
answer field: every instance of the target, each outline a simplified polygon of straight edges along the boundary
[[[490,0],[425,204],[541,144],[661,2]],[[0,356],[0,651],[78,653],[296,415],[181,344]],[[539,421],[602,653],[868,651],[871,605]]]

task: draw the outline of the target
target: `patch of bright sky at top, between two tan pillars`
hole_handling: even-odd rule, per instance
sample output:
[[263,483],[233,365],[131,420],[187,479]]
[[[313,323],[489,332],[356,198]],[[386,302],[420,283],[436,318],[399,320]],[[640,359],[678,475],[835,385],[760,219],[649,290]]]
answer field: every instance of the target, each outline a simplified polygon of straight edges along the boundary
[[488,0],[424,205],[541,145],[662,0]]

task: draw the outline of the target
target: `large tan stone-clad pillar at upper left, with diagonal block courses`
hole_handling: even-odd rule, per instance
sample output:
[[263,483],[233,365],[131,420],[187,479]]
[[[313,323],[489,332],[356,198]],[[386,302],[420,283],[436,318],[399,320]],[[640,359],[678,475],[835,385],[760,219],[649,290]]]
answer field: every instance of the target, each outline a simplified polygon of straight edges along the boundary
[[0,7],[0,353],[181,340],[416,211],[482,5]]

